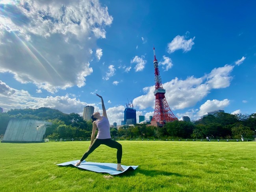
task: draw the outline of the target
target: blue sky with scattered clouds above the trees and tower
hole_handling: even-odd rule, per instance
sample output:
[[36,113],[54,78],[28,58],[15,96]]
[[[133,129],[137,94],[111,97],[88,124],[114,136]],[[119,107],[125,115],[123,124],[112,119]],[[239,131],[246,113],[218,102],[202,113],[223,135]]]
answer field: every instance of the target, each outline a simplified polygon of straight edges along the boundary
[[0,0],[0,107],[79,113],[103,96],[154,113],[154,54],[174,115],[256,113],[254,1]]

